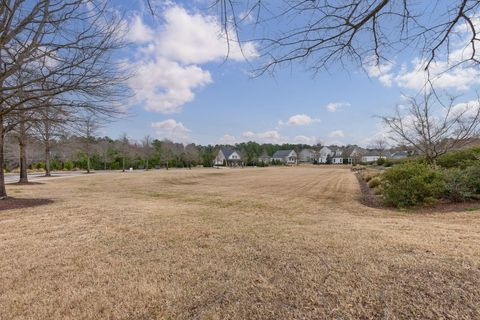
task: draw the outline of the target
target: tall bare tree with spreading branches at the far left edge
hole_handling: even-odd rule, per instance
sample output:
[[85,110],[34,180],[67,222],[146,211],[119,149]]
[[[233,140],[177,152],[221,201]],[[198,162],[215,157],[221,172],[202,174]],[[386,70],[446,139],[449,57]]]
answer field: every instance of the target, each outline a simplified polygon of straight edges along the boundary
[[55,98],[72,115],[88,111],[109,117],[130,95],[129,73],[113,57],[123,46],[125,28],[121,13],[108,6],[101,0],[1,1],[1,199],[7,197],[4,137],[15,127],[13,114],[21,110],[25,122],[34,122],[32,111]]

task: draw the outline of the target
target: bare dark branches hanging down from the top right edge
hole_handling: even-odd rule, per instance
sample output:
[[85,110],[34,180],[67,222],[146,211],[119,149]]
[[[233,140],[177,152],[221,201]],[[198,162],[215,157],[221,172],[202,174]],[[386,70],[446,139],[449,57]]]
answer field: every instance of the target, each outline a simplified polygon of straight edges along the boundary
[[[266,61],[259,74],[294,62],[315,72],[333,63],[379,64],[393,61],[406,49],[421,56],[425,70],[430,70],[434,62],[449,60],[459,40],[467,50],[458,63],[479,63],[479,1],[214,0],[213,4],[229,44],[237,45],[240,38],[256,41]],[[242,28],[244,24],[255,28]],[[245,34],[252,29],[260,35]]]

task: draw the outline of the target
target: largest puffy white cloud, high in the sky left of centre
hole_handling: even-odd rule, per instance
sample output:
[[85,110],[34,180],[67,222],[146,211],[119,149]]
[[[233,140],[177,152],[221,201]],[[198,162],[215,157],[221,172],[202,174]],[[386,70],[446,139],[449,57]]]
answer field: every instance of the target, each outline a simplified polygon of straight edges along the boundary
[[136,93],[133,102],[144,104],[148,111],[175,113],[194,100],[195,90],[213,82],[199,64],[220,61],[227,54],[235,61],[258,56],[253,43],[244,43],[242,52],[234,38],[229,50],[214,16],[172,5],[163,12],[163,20],[153,28],[134,16],[127,35],[137,44],[135,61],[129,63],[136,71],[130,79]]

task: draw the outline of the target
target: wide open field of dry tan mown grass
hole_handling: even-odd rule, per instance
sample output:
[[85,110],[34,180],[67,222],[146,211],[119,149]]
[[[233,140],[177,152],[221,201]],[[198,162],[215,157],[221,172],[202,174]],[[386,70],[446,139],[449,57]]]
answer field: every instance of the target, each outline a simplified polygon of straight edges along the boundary
[[348,169],[10,186],[0,319],[480,319],[480,212],[360,204]]

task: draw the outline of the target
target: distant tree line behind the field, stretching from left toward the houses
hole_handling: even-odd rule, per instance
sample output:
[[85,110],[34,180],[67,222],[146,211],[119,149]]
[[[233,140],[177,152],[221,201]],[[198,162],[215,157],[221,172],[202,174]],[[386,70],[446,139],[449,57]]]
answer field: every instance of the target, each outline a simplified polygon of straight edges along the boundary
[[51,128],[49,135],[31,127],[19,139],[19,134],[12,131],[5,139],[4,170],[24,171],[25,177],[21,174],[20,182],[28,182],[28,169],[41,169],[46,176],[50,176],[52,171],[73,169],[89,173],[91,170],[125,171],[129,168],[211,167],[222,147],[238,150],[245,165],[257,165],[260,156],[271,156],[278,150],[293,149],[300,152],[304,148],[321,148],[320,144],[260,144],[253,141],[235,146],[204,146],[153,139],[148,135],[137,141],[129,139],[127,134],[112,139],[99,137],[99,128],[98,122],[88,119],[83,121],[81,128],[74,125],[67,129],[58,124]]

